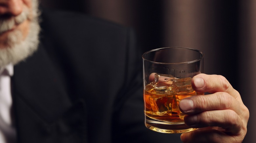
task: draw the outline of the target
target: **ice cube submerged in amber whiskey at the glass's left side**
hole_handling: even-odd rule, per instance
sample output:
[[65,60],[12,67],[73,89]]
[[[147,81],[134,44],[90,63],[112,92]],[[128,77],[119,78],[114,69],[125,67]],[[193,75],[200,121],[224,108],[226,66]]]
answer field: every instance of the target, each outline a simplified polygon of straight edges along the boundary
[[150,105],[155,114],[171,116],[179,107],[175,96],[150,96]]

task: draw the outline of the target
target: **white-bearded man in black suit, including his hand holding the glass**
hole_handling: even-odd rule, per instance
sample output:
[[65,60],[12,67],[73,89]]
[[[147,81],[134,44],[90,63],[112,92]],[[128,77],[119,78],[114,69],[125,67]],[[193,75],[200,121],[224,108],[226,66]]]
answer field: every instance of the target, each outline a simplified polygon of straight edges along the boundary
[[[132,30],[48,10],[39,42],[37,16],[36,0],[0,0],[0,142],[178,142],[143,125]],[[186,124],[206,127],[181,140],[242,142],[249,112],[239,93],[217,75],[192,85],[213,94],[180,102]]]

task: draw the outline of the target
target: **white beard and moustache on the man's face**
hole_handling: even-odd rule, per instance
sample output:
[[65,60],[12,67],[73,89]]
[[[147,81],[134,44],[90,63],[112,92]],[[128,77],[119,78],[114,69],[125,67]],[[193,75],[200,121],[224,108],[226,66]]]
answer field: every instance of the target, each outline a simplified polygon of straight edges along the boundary
[[37,50],[40,32],[38,16],[38,2],[37,0],[32,0],[32,15],[29,16],[29,12],[24,11],[12,20],[0,21],[0,33],[9,30],[15,23],[22,23],[26,19],[30,21],[29,33],[25,40],[22,40],[22,32],[18,29],[9,33],[8,39],[5,41],[8,46],[0,48],[0,67],[8,64],[15,65],[31,56]]

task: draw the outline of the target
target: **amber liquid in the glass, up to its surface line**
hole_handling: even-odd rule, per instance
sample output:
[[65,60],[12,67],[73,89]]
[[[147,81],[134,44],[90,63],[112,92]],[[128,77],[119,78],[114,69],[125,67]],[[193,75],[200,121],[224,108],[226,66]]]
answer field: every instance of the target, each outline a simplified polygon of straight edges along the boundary
[[161,133],[186,133],[196,130],[184,123],[179,110],[182,99],[193,95],[203,95],[194,90],[180,94],[158,94],[151,85],[144,90],[144,113],[147,128]]

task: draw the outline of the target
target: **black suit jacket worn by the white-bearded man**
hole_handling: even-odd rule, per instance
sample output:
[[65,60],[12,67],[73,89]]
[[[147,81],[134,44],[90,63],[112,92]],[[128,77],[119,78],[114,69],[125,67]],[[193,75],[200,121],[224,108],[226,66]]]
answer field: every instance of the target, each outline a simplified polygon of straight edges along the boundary
[[41,27],[37,52],[14,66],[19,143],[179,142],[144,126],[131,29],[55,11],[43,11]]

